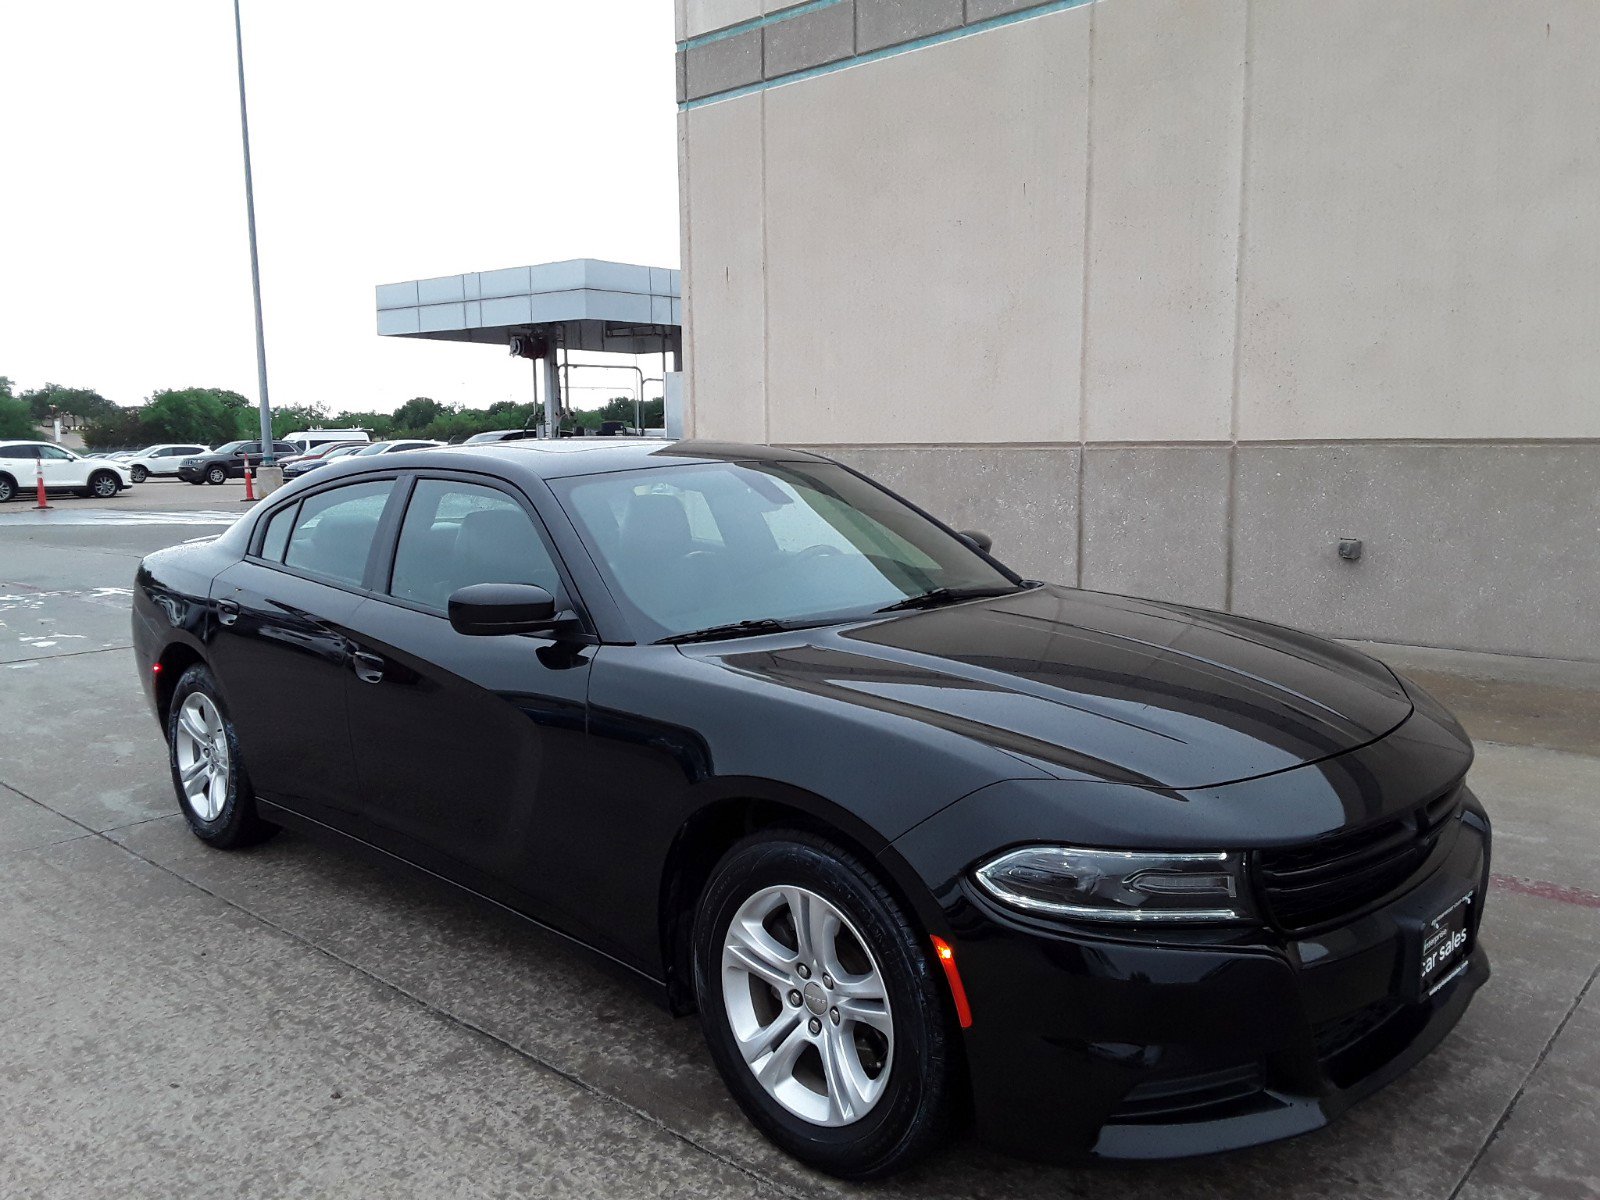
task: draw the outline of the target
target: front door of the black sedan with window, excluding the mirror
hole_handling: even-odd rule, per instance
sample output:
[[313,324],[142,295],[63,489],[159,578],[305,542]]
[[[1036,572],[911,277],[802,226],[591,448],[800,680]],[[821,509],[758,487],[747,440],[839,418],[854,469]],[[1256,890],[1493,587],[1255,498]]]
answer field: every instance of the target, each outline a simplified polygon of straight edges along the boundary
[[539,584],[570,605],[525,496],[486,477],[418,478],[386,582],[354,619],[363,814],[402,858],[549,917],[541,864],[578,850],[558,814],[582,803],[594,648],[458,634],[450,595],[477,582]]

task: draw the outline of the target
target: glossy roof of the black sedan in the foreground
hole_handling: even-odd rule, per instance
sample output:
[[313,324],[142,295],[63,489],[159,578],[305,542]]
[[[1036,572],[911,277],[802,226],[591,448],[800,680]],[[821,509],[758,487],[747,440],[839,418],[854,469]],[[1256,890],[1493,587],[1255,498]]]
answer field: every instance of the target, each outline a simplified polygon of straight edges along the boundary
[[[782,446],[757,446],[739,442],[662,442],[659,438],[574,437],[550,440],[477,442],[459,446],[402,450],[394,454],[352,458],[341,475],[397,467],[435,467],[440,470],[488,467],[501,475],[533,478],[565,478],[598,475],[610,470],[638,470],[653,466],[690,466],[707,462],[827,462],[821,454]],[[333,478],[317,472],[318,478]]]

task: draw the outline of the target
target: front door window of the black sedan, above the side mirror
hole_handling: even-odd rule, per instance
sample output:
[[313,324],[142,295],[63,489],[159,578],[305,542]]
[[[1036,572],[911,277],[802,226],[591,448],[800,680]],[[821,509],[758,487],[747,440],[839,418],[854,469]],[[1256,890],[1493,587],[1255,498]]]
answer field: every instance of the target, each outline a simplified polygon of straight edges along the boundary
[[469,584],[538,584],[560,595],[560,574],[539,528],[494,488],[419,480],[406,506],[389,592],[443,613]]

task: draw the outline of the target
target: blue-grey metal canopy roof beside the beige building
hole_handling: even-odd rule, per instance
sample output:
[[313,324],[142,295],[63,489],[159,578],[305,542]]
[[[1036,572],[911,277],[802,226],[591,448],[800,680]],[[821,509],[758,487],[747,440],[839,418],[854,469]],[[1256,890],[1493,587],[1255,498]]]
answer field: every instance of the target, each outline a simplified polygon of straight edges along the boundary
[[654,354],[682,346],[682,272],[579,258],[378,285],[378,333],[506,346],[555,336],[568,350]]

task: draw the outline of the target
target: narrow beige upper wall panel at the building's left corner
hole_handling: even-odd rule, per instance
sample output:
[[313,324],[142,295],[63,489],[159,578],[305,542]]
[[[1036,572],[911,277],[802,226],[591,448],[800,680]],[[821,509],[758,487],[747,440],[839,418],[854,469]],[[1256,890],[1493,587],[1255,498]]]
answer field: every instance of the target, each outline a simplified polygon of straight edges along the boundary
[[678,120],[686,142],[686,432],[765,442],[762,96],[690,109]]

